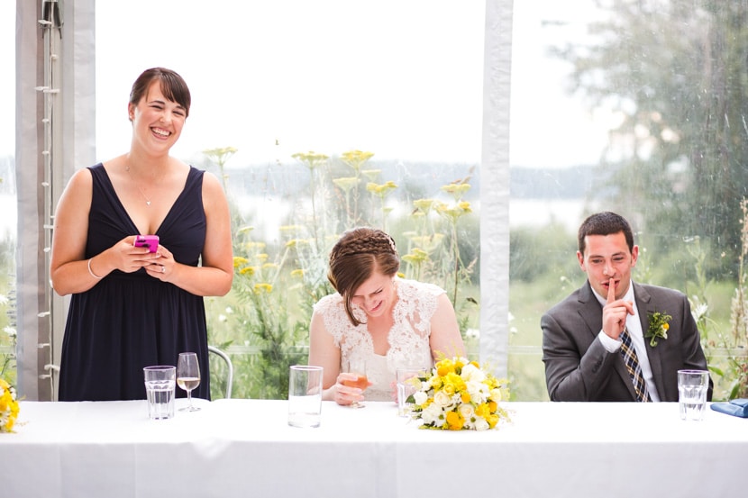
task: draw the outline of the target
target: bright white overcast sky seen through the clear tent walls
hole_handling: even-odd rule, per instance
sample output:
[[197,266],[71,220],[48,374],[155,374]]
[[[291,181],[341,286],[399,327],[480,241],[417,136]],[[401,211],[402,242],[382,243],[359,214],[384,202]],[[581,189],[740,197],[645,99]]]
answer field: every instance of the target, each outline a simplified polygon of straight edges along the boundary
[[[583,29],[555,0],[515,2],[512,163],[594,162],[605,129],[563,91],[547,43]],[[233,161],[314,149],[478,163],[485,4],[456,0],[97,2],[97,155],[129,147],[126,105],[145,68],[176,69],[193,107],[174,153],[233,146]],[[0,2],[0,65],[14,68],[14,2]],[[571,21],[564,29],[543,20]],[[565,34],[566,33],[566,34]],[[13,154],[14,80],[0,78],[0,154]],[[590,145],[591,144],[591,145]],[[83,166],[83,165],[82,165]]]

